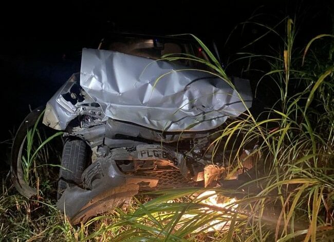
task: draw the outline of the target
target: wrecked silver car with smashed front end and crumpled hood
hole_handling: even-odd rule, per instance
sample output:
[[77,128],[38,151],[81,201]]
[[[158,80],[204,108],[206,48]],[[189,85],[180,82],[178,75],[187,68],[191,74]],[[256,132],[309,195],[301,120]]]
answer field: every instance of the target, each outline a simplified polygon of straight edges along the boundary
[[[252,92],[248,80],[232,78],[242,103],[226,81],[195,63],[159,60],[195,51],[206,58],[195,44],[166,37],[104,40],[99,49],[82,50],[80,73],[48,101],[43,117],[43,124],[65,131],[57,206],[72,223],[140,191],[218,179],[225,164],[208,151],[210,135],[244,113],[244,103],[251,107]],[[31,197],[36,191],[22,179],[20,164],[24,135],[18,130],[15,137],[12,180]]]

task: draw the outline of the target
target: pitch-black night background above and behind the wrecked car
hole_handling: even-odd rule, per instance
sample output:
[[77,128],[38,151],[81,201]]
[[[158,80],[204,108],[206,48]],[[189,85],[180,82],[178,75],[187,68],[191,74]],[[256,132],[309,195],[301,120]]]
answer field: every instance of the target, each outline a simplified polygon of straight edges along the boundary
[[[332,33],[333,11],[333,2],[324,0],[27,1],[2,6],[0,162],[8,160],[10,139],[29,107],[44,105],[72,73],[80,70],[82,47],[97,48],[108,31],[194,33],[209,46],[215,40],[224,63],[243,44],[261,35],[263,28],[249,24],[243,32],[238,28],[225,45],[234,27],[251,16],[271,26],[285,16],[297,16],[299,37],[295,45],[305,46],[317,34]],[[270,37],[266,41],[254,45],[252,51],[265,53],[279,40]],[[230,75],[240,73],[238,66],[228,70]]]

